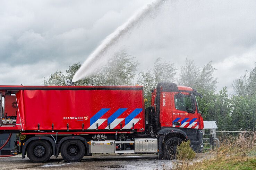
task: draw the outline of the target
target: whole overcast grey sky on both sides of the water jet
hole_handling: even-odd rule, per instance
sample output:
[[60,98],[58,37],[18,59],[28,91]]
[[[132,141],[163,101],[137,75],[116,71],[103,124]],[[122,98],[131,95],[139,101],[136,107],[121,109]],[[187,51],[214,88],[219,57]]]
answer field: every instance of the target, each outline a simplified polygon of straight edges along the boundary
[[[56,70],[83,63],[106,36],[148,0],[0,1],[0,84],[39,85]],[[218,90],[254,67],[256,1],[165,1],[117,42],[139,60],[180,68],[213,61]],[[177,77],[179,72],[177,74]]]

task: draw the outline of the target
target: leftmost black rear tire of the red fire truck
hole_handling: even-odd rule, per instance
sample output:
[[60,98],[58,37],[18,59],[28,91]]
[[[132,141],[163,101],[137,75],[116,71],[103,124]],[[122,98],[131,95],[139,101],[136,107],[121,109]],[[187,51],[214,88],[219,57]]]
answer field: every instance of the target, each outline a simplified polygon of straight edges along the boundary
[[51,156],[52,147],[44,140],[34,140],[27,147],[27,157],[33,163],[46,162]]

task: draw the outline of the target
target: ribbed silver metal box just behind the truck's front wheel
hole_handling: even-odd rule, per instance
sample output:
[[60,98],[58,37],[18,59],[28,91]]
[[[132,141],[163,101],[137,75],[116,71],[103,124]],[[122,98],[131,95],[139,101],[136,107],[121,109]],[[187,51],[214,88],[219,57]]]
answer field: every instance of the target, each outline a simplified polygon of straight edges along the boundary
[[156,153],[157,152],[157,139],[134,139],[134,153]]

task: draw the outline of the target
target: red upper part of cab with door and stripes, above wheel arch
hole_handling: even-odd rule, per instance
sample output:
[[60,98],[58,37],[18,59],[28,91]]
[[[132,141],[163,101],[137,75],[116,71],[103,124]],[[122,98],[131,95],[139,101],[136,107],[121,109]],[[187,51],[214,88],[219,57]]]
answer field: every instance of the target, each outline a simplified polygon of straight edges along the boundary
[[[196,90],[185,86],[164,88],[163,85],[159,90],[158,97],[157,89],[152,90],[151,106],[155,111],[158,109],[161,127],[204,128],[203,117],[196,100],[196,95],[201,95]],[[160,101],[157,102],[156,99]]]

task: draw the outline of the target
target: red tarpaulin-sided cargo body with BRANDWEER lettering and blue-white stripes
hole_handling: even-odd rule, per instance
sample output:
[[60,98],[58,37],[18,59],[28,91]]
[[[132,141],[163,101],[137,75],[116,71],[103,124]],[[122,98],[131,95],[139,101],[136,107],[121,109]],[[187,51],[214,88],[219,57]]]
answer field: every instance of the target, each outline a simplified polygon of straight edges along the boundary
[[142,86],[22,88],[16,93],[18,129],[145,129]]

